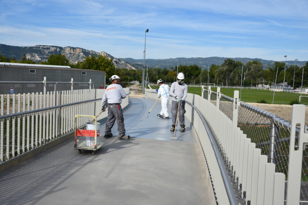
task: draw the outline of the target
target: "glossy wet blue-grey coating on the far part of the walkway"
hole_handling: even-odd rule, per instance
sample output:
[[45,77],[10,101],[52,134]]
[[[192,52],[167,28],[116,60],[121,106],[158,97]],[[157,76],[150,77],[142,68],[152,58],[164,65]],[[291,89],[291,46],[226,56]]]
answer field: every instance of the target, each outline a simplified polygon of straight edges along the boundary
[[[130,107],[125,110],[124,124],[126,135],[132,137],[142,137],[147,139],[168,140],[170,136],[174,136],[174,132],[170,132],[172,127],[171,102],[169,102],[168,112],[170,119],[162,119],[157,114],[161,110],[161,101],[157,101],[152,108],[155,100],[150,98],[130,98]],[[149,113],[150,109],[151,112]],[[148,117],[146,117],[148,115]],[[178,141],[196,143],[196,138],[192,132],[190,122],[185,117],[185,132],[180,132],[180,125],[176,126],[176,137]],[[101,128],[104,130],[104,127]],[[112,133],[118,133],[116,123]],[[172,140],[173,142],[176,142]]]

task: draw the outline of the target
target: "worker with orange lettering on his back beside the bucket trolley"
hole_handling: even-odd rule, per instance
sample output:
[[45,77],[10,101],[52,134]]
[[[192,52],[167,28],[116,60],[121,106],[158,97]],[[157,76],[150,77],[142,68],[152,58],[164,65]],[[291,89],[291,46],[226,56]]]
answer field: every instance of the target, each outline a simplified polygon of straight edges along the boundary
[[106,138],[112,137],[111,128],[115,124],[115,120],[118,124],[119,140],[128,140],[129,135],[125,135],[124,117],[121,107],[122,99],[126,97],[126,93],[120,83],[120,77],[117,75],[111,76],[109,81],[111,85],[106,88],[106,91],[102,98],[102,111],[105,111],[105,104],[108,103],[108,117],[106,122],[105,136]]

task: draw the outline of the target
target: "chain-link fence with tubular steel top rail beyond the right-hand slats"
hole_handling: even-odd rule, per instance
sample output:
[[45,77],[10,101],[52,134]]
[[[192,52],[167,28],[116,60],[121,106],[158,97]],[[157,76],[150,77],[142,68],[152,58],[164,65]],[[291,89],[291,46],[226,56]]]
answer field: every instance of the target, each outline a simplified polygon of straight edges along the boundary
[[[208,92],[203,93],[207,99]],[[211,101],[217,93],[211,91]],[[261,149],[261,154],[268,156],[268,161],[276,165],[276,172],[282,172],[288,180],[290,131],[291,123],[273,113],[244,102],[238,103],[237,127],[239,127],[251,142]],[[215,104],[216,105],[216,104]],[[232,120],[233,98],[222,95],[219,98],[219,110]],[[296,132],[295,149],[298,147],[298,132]],[[218,142],[219,143],[219,142]],[[302,157],[302,176],[300,203],[308,204],[308,149],[304,149]],[[287,183],[286,183],[287,184]],[[285,187],[285,191],[286,191]],[[286,194],[285,194],[286,200]]]

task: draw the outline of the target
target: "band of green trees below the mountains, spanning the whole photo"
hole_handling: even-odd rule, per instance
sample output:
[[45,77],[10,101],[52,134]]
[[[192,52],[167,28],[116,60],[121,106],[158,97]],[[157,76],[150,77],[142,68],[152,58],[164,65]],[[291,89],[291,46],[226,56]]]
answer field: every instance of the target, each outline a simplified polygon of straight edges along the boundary
[[[21,60],[17,61],[14,58],[5,57],[0,54],[0,62],[36,64],[35,61],[27,59],[25,55]],[[87,56],[82,62],[71,63],[62,54],[52,54],[46,62],[41,61],[39,64],[101,70],[106,71],[106,79],[116,74],[121,77],[121,81],[123,82],[142,81],[142,70],[116,69],[112,59],[102,55],[98,57]],[[285,68],[286,71],[284,71]],[[288,85],[292,86],[293,77],[295,76],[294,87],[300,87],[302,83],[302,69],[304,69],[303,86],[308,87],[308,62],[300,68],[297,65],[286,66],[285,63],[276,61],[272,67],[268,65],[267,69],[263,69],[260,61],[249,61],[244,64],[241,61],[234,61],[229,58],[221,65],[212,64],[209,70],[201,70],[201,67],[197,65],[179,65],[178,67],[170,67],[169,69],[166,67],[163,69],[149,68],[145,72],[148,73],[148,81],[152,83],[156,83],[158,79],[163,79],[166,83],[172,83],[176,81],[176,71],[178,71],[184,73],[186,84],[199,85],[200,83],[209,82],[222,86],[240,86],[241,81],[243,86],[256,86],[259,84],[272,85],[275,83],[277,72],[277,84],[282,83],[285,77],[285,82],[288,82]]]

